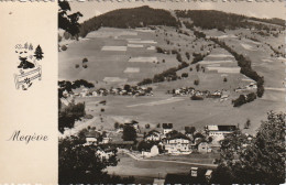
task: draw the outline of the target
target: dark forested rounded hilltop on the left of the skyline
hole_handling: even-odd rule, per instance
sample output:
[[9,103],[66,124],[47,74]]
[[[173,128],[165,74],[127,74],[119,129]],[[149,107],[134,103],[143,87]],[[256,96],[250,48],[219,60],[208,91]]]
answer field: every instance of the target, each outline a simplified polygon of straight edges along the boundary
[[81,23],[79,35],[85,37],[89,32],[98,30],[100,26],[134,29],[148,25],[178,26],[179,24],[169,11],[144,6],[133,9],[113,10],[91,18]]

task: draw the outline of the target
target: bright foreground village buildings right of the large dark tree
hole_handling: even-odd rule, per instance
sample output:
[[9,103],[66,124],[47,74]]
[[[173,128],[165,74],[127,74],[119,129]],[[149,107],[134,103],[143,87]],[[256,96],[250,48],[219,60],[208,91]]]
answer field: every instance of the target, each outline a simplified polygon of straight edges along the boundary
[[[223,140],[224,135],[237,130],[235,126],[207,126],[204,131],[196,132],[194,130],[190,133],[186,128],[185,133],[182,133],[173,130],[172,123],[163,123],[163,131],[150,131],[145,134],[144,142],[152,144],[146,144],[142,155],[155,156],[160,154],[158,149],[173,155],[190,154],[194,150],[199,153],[208,153],[220,148],[219,141]],[[211,141],[209,138],[211,138]]]

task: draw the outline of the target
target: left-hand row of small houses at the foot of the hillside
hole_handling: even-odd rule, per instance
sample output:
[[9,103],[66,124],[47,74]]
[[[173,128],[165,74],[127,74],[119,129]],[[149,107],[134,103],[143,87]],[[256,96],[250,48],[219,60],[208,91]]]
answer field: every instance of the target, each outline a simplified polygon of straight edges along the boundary
[[99,88],[99,89],[88,89],[82,88],[79,92],[75,92],[74,96],[79,97],[99,97],[108,95],[119,95],[119,96],[153,96],[151,87],[140,87],[140,86],[130,86],[130,88]]

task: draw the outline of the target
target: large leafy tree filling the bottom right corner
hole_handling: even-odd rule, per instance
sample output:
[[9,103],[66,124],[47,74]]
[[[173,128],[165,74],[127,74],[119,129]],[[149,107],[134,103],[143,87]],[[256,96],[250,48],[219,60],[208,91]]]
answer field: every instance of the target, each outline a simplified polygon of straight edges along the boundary
[[283,184],[285,182],[285,113],[268,112],[255,137],[237,130],[221,142],[212,184]]

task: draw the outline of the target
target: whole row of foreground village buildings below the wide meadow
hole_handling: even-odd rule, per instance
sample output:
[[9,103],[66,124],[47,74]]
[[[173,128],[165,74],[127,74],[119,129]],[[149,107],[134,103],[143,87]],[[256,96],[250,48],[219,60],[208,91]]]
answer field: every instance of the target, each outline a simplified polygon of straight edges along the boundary
[[[235,126],[206,126],[202,131],[196,131],[195,128],[190,131],[189,127],[186,127],[185,133],[182,133],[173,129],[173,123],[163,123],[162,129],[151,130],[144,133],[144,135],[139,137],[139,122],[133,121],[125,124],[134,127],[136,130],[138,145],[135,145],[134,141],[123,141],[121,139],[122,127],[119,127],[117,131],[87,130],[85,132],[86,144],[96,146],[112,145],[119,149],[135,149],[134,146],[138,146],[139,149],[139,144],[143,142],[141,149],[143,157],[152,157],[162,153],[172,155],[190,154],[194,151],[209,153],[216,151],[213,150],[215,148],[220,148],[219,141],[223,140],[226,134],[237,130]],[[99,151],[100,155],[105,157],[109,157],[112,154],[111,150]]]

